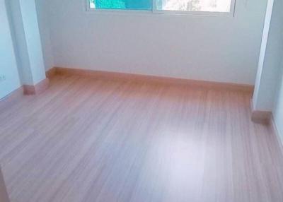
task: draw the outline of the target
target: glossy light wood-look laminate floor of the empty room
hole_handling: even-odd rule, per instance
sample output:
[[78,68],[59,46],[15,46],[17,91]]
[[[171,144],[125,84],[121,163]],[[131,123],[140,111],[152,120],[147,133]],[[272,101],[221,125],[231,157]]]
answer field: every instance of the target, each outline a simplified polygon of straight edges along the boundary
[[283,156],[250,94],[55,76],[0,102],[11,202],[282,202]]

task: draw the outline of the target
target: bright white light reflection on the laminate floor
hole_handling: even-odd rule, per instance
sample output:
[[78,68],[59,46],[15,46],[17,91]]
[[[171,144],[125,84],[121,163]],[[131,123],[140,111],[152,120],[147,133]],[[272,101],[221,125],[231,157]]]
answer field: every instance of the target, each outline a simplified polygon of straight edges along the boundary
[[176,193],[179,199],[187,199],[186,193],[190,193],[190,200],[195,201],[200,198],[201,189],[198,188],[204,172],[202,137],[195,138],[194,129],[163,129],[156,131],[154,146],[146,155],[139,184],[144,190],[141,193],[163,189],[168,201],[175,201]]

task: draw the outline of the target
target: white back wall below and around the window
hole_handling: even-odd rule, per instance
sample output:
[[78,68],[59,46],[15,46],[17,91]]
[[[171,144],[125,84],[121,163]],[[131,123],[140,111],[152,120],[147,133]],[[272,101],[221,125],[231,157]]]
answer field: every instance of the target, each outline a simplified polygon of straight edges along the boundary
[[[267,0],[236,1],[236,16],[88,13],[50,0],[54,66],[255,83]],[[43,15],[42,15],[43,16]]]

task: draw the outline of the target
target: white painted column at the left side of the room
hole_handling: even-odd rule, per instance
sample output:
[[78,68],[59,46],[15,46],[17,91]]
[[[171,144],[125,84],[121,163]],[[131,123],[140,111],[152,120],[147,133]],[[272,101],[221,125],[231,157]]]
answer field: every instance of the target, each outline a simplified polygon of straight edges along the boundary
[[46,80],[35,0],[11,0],[9,4],[21,81],[35,86]]

